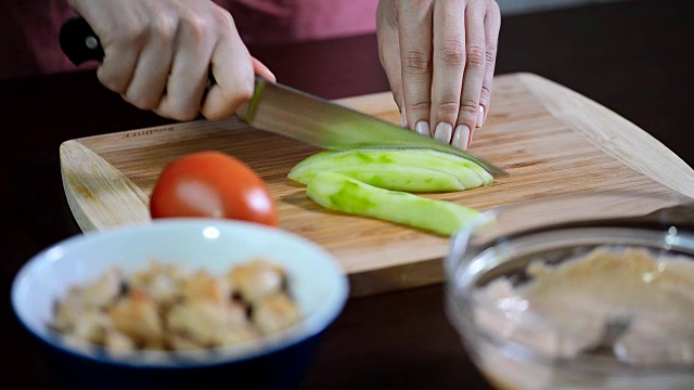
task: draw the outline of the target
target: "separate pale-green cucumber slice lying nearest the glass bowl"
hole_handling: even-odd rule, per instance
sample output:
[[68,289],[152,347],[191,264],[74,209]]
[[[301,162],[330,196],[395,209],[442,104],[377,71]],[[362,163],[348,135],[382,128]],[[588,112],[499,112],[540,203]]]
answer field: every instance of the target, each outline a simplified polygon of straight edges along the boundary
[[454,203],[380,188],[336,172],[316,173],[306,195],[335,211],[377,218],[450,236],[479,211]]

